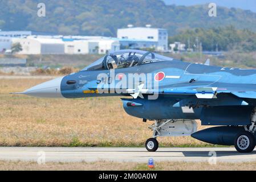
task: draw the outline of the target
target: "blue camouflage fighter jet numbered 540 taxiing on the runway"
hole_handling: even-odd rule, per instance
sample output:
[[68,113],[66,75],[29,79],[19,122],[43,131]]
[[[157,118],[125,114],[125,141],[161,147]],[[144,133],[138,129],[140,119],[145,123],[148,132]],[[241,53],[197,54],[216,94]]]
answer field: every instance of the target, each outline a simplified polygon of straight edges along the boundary
[[[148,151],[158,137],[192,136],[251,152],[256,145],[256,70],[185,63],[153,52],[110,52],[77,73],[36,85],[35,97],[120,96],[124,110],[149,127]],[[17,93],[16,93],[17,94]],[[197,131],[201,125],[215,126]],[[155,122],[154,122],[155,121]],[[120,121],[121,122],[121,121]]]

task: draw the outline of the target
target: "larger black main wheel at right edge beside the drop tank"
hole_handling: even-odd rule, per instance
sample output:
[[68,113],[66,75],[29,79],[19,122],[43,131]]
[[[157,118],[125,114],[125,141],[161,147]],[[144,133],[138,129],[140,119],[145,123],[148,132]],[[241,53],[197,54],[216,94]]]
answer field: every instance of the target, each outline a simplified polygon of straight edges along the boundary
[[252,152],[255,144],[255,137],[249,131],[237,134],[234,140],[235,149],[241,153]]

